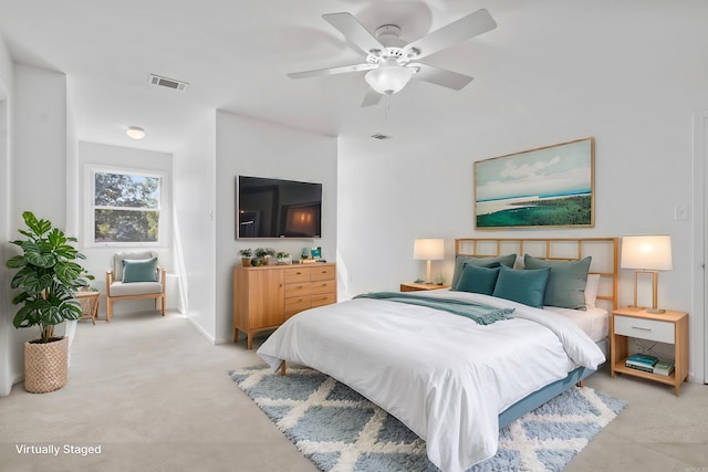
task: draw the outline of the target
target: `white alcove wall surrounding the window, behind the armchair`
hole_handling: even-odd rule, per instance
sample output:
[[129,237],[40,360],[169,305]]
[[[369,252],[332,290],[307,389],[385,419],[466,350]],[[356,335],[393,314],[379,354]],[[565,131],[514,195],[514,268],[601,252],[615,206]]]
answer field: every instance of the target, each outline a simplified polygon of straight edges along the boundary
[[[71,156],[70,156],[71,157]],[[71,162],[71,159],[70,159]],[[105,313],[105,284],[106,270],[111,268],[112,256],[116,252],[129,252],[140,250],[136,247],[111,245],[104,248],[92,248],[90,245],[91,228],[86,228],[86,192],[90,190],[90,179],[87,179],[87,169],[92,166],[107,167],[118,169],[129,169],[136,171],[159,171],[167,175],[163,182],[162,201],[164,208],[171,208],[171,155],[167,153],[157,153],[152,150],[135,149],[129,147],[110,146],[96,143],[79,141],[76,165],[72,166],[75,174],[70,172],[69,180],[75,181],[76,185],[71,187],[69,192],[69,201],[74,202],[75,207],[70,212],[71,220],[75,222],[72,228],[73,233],[79,238],[81,252],[86,256],[82,265],[86,268],[95,280],[92,285],[101,291],[101,313]],[[88,196],[90,198],[90,196]],[[167,269],[170,274],[177,273],[176,264],[173,261],[173,231],[171,231],[171,211],[160,213],[160,219],[165,219],[165,225],[160,228],[163,231],[163,244],[160,247],[149,247],[154,251],[162,266]],[[171,277],[170,277],[171,279]],[[168,279],[169,280],[169,279]],[[179,293],[176,284],[168,284],[167,307],[174,308],[179,301]],[[154,310],[155,303],[152,300],[134,300],[124,301],[114,305],[114,313],[129,313],[142,310]],[[103,315],[102,315],[103,316]]]

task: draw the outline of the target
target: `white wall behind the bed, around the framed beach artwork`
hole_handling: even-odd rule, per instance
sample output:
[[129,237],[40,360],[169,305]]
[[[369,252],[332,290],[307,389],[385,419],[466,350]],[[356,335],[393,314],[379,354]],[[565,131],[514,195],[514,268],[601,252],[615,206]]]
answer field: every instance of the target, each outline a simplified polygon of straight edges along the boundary
[[[702,326],[702,313],[691,310],[700,263],[691,247],[701,242],[694,241],[693,219],[676,220],[674,210],[694,201],[691,116],[708,108],[708,6],[652,6],[638,14],[601,2],[583,10],[582,21],[566,3],[555,13],[539,6],[539,14],[556,15],[553,34],[563,39],[537,49],[530,35],[508,50],[498,36],[497,57],[477,64],[483,81],[459,93],[469,99],[469,120],[405,141],[341,137],[337,247],[347,293],[395,290],[423,275],[415,238],[446,239],[447,259],[433,272],[449,281],[455,238],[664,233],[673,238],[674,270],[660,275],[659,304]],[[596,139],[594,228],[473,230],[473,161],[587,136]],[[632,302],[632,271],[622,271],[621,305]],[[700,329],[691,329],[693,381],[702,381],[704,345]]]

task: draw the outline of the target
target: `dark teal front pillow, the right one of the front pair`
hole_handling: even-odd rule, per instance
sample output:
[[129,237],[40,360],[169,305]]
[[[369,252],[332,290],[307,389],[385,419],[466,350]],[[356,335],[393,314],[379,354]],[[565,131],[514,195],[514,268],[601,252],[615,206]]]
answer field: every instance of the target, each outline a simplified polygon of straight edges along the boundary
[[543,295],[551,269],[509,269],[504,265],[499,269],[493,296],[543,308]]

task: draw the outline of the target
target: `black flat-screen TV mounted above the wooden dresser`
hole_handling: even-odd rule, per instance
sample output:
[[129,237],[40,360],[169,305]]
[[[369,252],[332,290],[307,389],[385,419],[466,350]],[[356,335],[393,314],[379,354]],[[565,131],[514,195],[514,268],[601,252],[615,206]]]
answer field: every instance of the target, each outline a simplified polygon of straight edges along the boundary
[[320,238],[322,183],[238,176],[236,237]]

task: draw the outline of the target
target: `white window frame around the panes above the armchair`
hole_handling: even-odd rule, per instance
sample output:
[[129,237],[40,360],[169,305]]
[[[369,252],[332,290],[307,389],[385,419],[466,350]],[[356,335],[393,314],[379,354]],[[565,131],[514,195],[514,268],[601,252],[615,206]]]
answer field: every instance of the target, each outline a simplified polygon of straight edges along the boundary
[[[157,211],[159,212],[157,224],[157,241],[113,241],[113,242],[97,242],[95,241],[95,210],[105,208],[103,206],[95,204],[95,191],[96,191],[96,174],[119,174],[126,176],[136,177],[149,177],[157,178],[159,181],[159,198]],[[168,245],[166,239],[166,232],[168,228],[167,218],[168,211],[168,172],[155,170],[155,169],[138,169],[127,167],[112,167],[112,166],[95,166],[86,165],[84,172],[85,183],[85,210],[84,210],[84,237],[87,248],[163,248]],[[113,207],[111,207],[113,208]],[[119,207],[115,207],[121,209]],[[125,209],[125,208],[123,208]],[[149,211],[154,211],[150,209]]]

